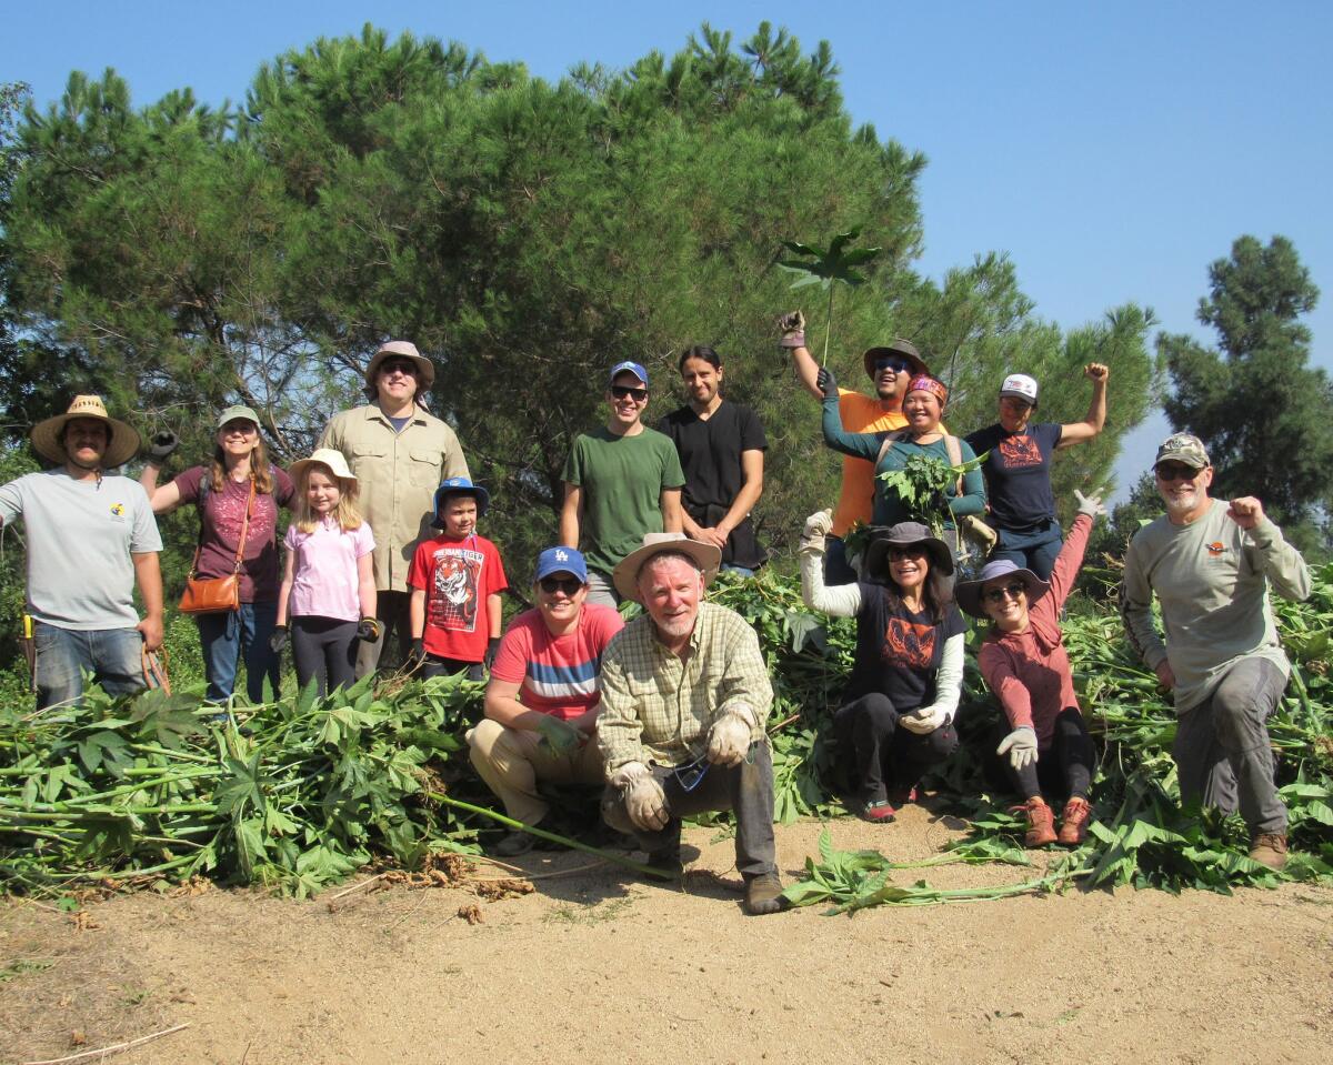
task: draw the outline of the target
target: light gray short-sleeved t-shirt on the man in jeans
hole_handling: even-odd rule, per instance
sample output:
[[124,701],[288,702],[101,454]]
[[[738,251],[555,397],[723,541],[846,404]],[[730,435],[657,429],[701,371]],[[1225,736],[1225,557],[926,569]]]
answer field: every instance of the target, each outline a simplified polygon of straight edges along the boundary
[[0,523],[21,517],[28,550],[28,613],[61,629],[139,624],[131,553],[161,550],[139,481],[76,481],[61,467],[0,485]]

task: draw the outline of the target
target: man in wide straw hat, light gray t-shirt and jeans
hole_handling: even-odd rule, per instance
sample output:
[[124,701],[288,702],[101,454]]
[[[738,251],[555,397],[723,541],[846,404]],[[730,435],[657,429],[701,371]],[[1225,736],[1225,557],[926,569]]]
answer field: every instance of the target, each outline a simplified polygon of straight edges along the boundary
[[163,642],[163,541],[143,487],[103,471],[139,452],[139,433],[100,396],[76,396],[33,427],[32,448],[56,467],[0,487],[0,525],[21,517],[28,532],[37,706],[79,698],[85,672],[109,694],[136,692],[143,652]]

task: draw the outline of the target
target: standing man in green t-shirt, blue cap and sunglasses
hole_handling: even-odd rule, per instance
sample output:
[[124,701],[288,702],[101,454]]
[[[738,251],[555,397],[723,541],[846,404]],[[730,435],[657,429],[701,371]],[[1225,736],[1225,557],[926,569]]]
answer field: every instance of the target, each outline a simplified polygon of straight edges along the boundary
[[651,532],[681,532],[685,475],[670,437],[643,423],[648,371],[617,363],[607,387],[607,424],[580,433],[565,461],[560,542],[588,560],[588,602],[616,606],[616,564]]

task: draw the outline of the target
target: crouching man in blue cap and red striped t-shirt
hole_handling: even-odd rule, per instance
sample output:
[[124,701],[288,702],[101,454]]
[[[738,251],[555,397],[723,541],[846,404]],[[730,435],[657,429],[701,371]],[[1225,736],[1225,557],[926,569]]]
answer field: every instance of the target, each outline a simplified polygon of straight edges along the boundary
[[[625,622],[588,602],[588,565],[573,548],[547,548],[532,578],[537,609],[519,614],[500,641],[487,716],[468,732],[472,765],[516,821],[560,832],[537,781],[601,784],[597,729],[601,656]],[[515,829],[495,846],[501,857],[531,850]]]

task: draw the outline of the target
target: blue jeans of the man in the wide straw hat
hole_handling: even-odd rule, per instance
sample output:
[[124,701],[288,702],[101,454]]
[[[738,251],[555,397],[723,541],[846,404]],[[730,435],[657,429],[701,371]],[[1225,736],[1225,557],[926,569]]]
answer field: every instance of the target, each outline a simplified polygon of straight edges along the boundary
[[39,710],[76,702],[83,694],[84,673],[92,673],[108,696],[148,686],[139,629],[61,629],[36,621],[32,641],[37,650]]

